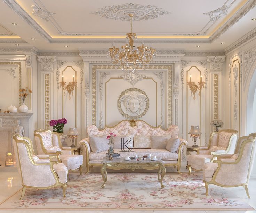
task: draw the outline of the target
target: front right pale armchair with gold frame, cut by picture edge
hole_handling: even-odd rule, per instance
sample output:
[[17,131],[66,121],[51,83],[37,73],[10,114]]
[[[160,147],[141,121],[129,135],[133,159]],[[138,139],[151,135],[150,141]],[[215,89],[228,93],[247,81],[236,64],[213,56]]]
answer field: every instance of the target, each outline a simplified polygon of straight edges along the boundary
[[206,196],[208,185],[215,184],[222,187],[243,186],[248,198],[248,182],[255,158],[255,136],[241,137],[239,153],[234,154],[230,159],[214,160],[203,167],[203,182],[205,182]]

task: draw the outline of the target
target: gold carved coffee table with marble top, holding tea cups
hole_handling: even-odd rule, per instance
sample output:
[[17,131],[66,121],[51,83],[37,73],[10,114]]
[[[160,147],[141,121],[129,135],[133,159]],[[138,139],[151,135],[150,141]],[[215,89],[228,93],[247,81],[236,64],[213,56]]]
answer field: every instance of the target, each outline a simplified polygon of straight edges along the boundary
[[122,158],[114,158],[112,161],[110,161],[108,158],[106,158],[102,161],[102,163],[103,165],[101,167],[101,175],[103,178],[103,185],[101,187],[103,189],[105,188],[105,183],[107,181],[107,168],[114,170],[130,169],[131,171],[134,171],[136,169],[159,169],[158,181],[160,182],[162,188],[165,187],[165,185],[162,184],[162,181],[163,177],[165,176],[166,169],[163,165],[164,162],[162,160],[151,161],[151,159],[142,160],[141,158],[139,158],[139,161],[137,161],[137,159],[135,158],[127,161]]

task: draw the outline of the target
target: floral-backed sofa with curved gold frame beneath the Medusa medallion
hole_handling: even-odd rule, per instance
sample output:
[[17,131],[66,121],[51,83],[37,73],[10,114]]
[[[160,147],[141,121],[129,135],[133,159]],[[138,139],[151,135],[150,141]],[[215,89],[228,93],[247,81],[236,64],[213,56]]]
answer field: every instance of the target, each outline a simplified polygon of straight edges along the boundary
[[[82,139],[79,144],[81,145],[81,153],[83,155],[84,159],[84,165],[86,165],[87,172],[89,173],[90,167],[93,166],[102,166],[102,160],[106,157],[107,150],[94,153],[92,151],[92,147],[90,144],[90,138],[92,140],[95,136],[102,136],[102,138],[105,138],[104,136],[107,136],[107,133],[113,133],[117,136],[133,136],[135,138],[142,137],[142,143],[144,141],[143,137],[154,137],[155,136],[162,136],[162,137],[168,137],[168,138],[178,138],[179,128],[178,126],[171,125],[167,130],[163,130],[160,126],[153,127],[147,124],[145,121],[142,120],[123,120],[119,122],[114,127],[106,127],[103,130],[99,130],[97,126],[90,125],[87,128],[88,137],[85,139]],[[161,137],[160,137],[161,138]],[[139,156],[143,156],[146,153],[151,153],[152,155],[156,155],[157,157],[161,157],[162,160],[165,162],[165,166],[177,166],[177,171],[179,174],[180,167],[181,167],[181,161],[182,156],[185,153],[185,148],[187,146],[187,141],[184,139],[179,139],[178,142],[177,151],[170,152],[167,149],[152,149],[151,147],[144,148],[142,147],[143,144],[139,144],[139,148],[137,148],[138,144],[136,146],[132,146],[133,151],[136,152]],[[134,144],[135,145],[135,140]],[[147,145],[148,146],[148,145]],[[155,145],[154,145],[155,146]],[[121,158],[124,158],[125,156],[133,156],[133,152],[120,152],[121,149],[115,149],[115,153],[119,153]]]

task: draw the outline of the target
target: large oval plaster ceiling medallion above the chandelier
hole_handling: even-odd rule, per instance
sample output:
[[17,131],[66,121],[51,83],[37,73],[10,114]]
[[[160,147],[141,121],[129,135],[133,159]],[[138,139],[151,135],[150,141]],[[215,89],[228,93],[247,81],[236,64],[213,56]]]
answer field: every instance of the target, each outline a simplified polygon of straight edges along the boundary
[[105,6],[92,14],[100,15],[107,19],[130,21],[129,14],[133,14],[133,20],[149,20],[158,18],[159,16],[170,14],[154,5],[139,5],[139,4],[123,4]]

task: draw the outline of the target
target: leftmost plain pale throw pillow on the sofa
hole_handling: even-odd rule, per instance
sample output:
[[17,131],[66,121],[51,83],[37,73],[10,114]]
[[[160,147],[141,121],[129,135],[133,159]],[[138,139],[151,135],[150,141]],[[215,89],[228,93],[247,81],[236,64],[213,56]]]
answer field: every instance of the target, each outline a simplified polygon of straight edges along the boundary
[[107,151],[109,149],[109,140],[107,136],[89,136],[91,151],[98,153],[101,151]]

